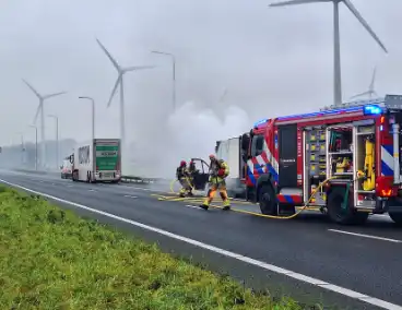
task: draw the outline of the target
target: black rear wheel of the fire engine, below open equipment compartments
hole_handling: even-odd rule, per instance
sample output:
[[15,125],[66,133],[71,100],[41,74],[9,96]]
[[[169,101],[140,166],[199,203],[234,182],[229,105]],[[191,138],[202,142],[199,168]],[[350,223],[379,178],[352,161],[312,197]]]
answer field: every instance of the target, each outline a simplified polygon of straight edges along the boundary
[[350,200],[346,207],[343,206],[345,189],[335,187],[328,196],[328,216],[332,222],[341,225],[364,224],[368,218],[368,213],[357,212],[351,207]]

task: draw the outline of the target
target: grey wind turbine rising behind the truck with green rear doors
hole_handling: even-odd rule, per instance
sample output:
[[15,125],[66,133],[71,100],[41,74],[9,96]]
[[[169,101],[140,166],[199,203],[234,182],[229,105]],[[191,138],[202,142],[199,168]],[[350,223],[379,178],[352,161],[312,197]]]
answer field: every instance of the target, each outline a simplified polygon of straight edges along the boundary
[[121,144],[125,146],[125,143],[126,143],[126,122],[125,122],[125,92],[123,92],[123,80],[122,80],[122,78],[123,78],[125,73],[127,73],[129,71],[152,69],[152,68],[155,68],[156,65],[120,67],[117,63],[117,61],[111,57],[110,52],[106,49],[106,47],[98,39],[96,39],[96,41],[100,46],[103,51],[106,53],[106,56],[109,58],[109,60],[111,61],[113,65],[116,68],[117,73],[118,73],[115,86],[111,91],[109,100],[107,103],[107,107],[110,106],[111,99],[116,94],[117,87],[120,85],[120,139],[121,139]]

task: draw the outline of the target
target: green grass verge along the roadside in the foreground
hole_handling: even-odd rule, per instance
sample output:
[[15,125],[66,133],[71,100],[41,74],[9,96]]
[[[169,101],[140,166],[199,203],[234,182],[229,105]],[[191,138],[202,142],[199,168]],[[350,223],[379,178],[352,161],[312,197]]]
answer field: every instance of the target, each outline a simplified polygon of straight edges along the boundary
[[0,309],[303,309],[4,187],[0,288]]

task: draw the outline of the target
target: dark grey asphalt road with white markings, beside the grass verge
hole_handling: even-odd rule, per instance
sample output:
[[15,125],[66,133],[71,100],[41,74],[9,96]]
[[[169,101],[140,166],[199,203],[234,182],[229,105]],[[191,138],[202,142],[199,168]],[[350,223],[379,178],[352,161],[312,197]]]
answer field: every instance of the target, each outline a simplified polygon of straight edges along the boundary
[[203,211],[198,202],[158,200],[168,193],[157,184],[87,184],[10,171],[0,171],[0,180],[158,241],[165,251],[258,289],[338,309],[402,309],[402,229],[387,216],[342,227],[317,214],[268,219],[245,213],[258,207],[241,201],[230,212]]

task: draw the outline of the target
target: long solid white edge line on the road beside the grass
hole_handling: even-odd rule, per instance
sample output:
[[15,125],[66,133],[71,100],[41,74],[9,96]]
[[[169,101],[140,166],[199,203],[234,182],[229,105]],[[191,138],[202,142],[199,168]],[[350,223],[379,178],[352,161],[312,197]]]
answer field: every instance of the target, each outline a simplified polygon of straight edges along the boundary
[[187,242],[189,245],[192,245],[192,246],[205,249],[205,250],[210,250],[210,251],[218,253],[221,255],[225,255],[227,258],[232,258],[232,259],[235,259],[235,260],[238,260],[238,261],[241,261],[241,262],[255,265],[255,266],[259,266],[261,269],[264,269],[264,270],[268,270],[268,271],[271,271],[271,272],[274,272],[274,273],[283,274],[283,275],[286,275],[288,277],[292,277],[292,278],[295,278],[295,279],[298,279],[298,281],[318,286],[320,288],[332,290],[332,291],[335,291],[338,294],[351,297],[353,299],[357,299],[359,301],[377,306],[379,308],[383,308],[383,309],[388,309],[388,310],[402,310],[402,307],[399,306],[399,305],[391,303],[391,302],[388,302],[386,300],[381,300],[381,299],[378,299],[378,298],[375,298],[375,297],[371,297],[371,296],[368,296],[368,295],[364,295],[364,294],[351,290],[348,288],[344,288],[344,287],[341,287],[341,286],[338,286],[338,285],[333,285],[331,283],[327,283],[324,281],[314,278],[314,277],[310,277],[310,276],[307,276],[307,275],[304,275],[304,274],[299,274],[299,273],[296,273],[296,272],[293,272],[293,271],[289,271],[289,270],[285,270],[285,269],[282,269],[282,267],[279,267],[279,266],[275,266],[275,265],[272,265],[272,264],[268,264],[268,263],[264,263],[262,261],[258,261],[258,260],[255,260],[255,259],[251,259],[251,258],[248,258],[248,257],[244,257],[241,254],[230,252],[230,251],[227,251],[227,250],[224,250],[224,249],[221,249],[221,248],[208,245],[208,243],[203,243],[203,242],[200,242],[200,241],[197,241],[194,239],[190,239],[190,238],[187,238],[187,237],[184,237],[184,236],[180,236],[180,235],[176,235],[176,234],[169,233],[167,230],[163,230],[163,229],[159,229],[159,228],[156,228],[156,227],[153,227],[153,226],[149,226],[149,225],[135,222],[135,220],[131,220],[131,219],[128,219],[128,218],[125,218],[125,217],[120,217],[120,216],[114,215],[111,213],[107,213],[107,212],[104,212],[104,211],[92,208],[92,207],[85,206],[83,204],[79,204],[79,203],[75,203],[75,202],[72,202],[72,201],[63,200],[63,199],[60,199],[60,198],[57,198],[57,196],[54,196],[54,195],[49,195],[49,194],[46,194],[46,193],[43,193],[43,192],[31,190],[28,188],[25,188],[25,187],[15,184],[15,183],[11,183],[11,182],[8,182],[8,181],[2,180],[2,179],[0,179],[0,182],[3,182],[5,184],[9,184],[9,186],[14,187],[14,188],[20,188],[24,191],[32,192],[34,194],[43,195],[45,198],[48,198],[48,199],[51,199],[51,200],[55,200],[55,201],[58,201],[58,202],[61,202],[61,203],[70,204],[70,205],[73,205],[75,207],[80,207],[80,208],[83,208],[83,210],[86,210],[86,211],[90,211],[90,212],[93,212],[93,213],[97,213],[97,214],[100,214],[103,216],[107,216],[107,217],[110,217],[110,218],[114,218],[114,219],[117,219],[117,220],[120,220],[120,222],[123,222],[123,223],[127,223],[127,224],[131,224],[133,226],[141,227],[143,229],[154,231],[154,233],[157,233],[159,235],[163,235],[163,236],[176,239],[176,240],[180,240],[180,241]]

